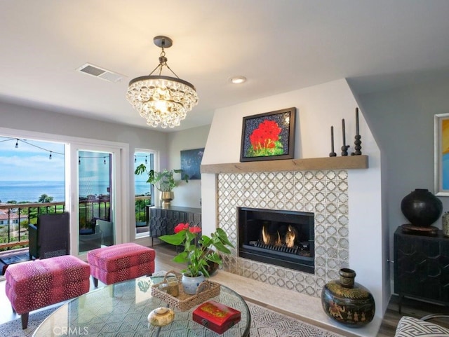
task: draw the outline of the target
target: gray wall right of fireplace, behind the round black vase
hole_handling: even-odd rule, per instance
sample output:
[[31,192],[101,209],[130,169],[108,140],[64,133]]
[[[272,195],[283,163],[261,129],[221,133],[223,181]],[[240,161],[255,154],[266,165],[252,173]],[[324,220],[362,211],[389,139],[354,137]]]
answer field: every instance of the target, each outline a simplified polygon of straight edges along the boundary
[[[358,96],[382,152],[390,259],[393,259],[393,233],[398,226],[408,223],[401,212],[403,197],[415,188],[435,192],[434,115],[449,112],[448,93],[449,81],[441,80]],[[443,212],[449,210],[449,198],[440,199]],[[441,228],[441,219],[433,226]]]

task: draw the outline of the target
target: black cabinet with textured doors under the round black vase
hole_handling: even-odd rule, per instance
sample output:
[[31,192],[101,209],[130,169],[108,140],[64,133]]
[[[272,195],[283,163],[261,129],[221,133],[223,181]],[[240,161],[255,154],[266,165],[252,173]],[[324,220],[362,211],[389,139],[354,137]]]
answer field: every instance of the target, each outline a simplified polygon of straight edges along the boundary
[[442,231],[429,236],[396,229],[394,291],[399,295],[399,313],[404,296],[449,305],[449,238]]

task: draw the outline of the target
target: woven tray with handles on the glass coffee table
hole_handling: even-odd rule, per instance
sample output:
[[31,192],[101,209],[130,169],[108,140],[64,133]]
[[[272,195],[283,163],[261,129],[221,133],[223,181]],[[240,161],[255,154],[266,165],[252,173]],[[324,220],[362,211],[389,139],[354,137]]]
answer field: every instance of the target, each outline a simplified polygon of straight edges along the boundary
[[[178,280],[179,295],[174,297],[163,291],[164,284],[167,284],[167,277],[170,275],[175,275]],[[205,280],[201,282],[196,289],[196,294],[190,295],[186,294],[182,289],[181,284],[182,275],[170,270],[163,277],[163,281],[152,285],[152,296],[160,298],[162,301],[166,302],[171,308],[177,308],[181,311],[189,310],[195,305],[206,302],[209,298],[215,297],[220,294],[220,284]]]

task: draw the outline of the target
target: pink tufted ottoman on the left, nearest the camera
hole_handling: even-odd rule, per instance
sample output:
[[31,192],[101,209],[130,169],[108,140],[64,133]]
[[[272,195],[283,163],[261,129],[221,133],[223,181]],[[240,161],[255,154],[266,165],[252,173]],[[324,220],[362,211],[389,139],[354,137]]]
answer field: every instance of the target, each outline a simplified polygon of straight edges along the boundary
[[90,274],[88,263],[72,255],[8,266],[6,296],[21,315],[22,329],[27,329],[30,311],[86,294]]

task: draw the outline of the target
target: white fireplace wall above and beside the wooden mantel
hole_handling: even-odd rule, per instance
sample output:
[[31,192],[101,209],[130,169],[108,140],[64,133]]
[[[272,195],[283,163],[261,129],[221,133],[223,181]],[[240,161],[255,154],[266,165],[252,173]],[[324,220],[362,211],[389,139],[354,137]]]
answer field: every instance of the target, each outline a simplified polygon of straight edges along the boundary
[[[335,130],[335,152],[340,156],[342,118],[346,139],[354,151],[356,99],[344,80],[264,97],[255,101],[217,109],[210,126],[202,164],[238,163],[243,116],[295,106],[297,125],[295,158],[327,157],[330,152],[330,126]],[[376,301],[376,315],[382,317],[389,294],[383,282],[382,207],[380,150],[360,114],[362,152],[369,156],[368,170],[349,170],[349,266],[356,270],[356,282],[368,287]],[[225,135],[225,136],[224,136]],[[215,175],[202,174],[203,229],[216,226]]]

